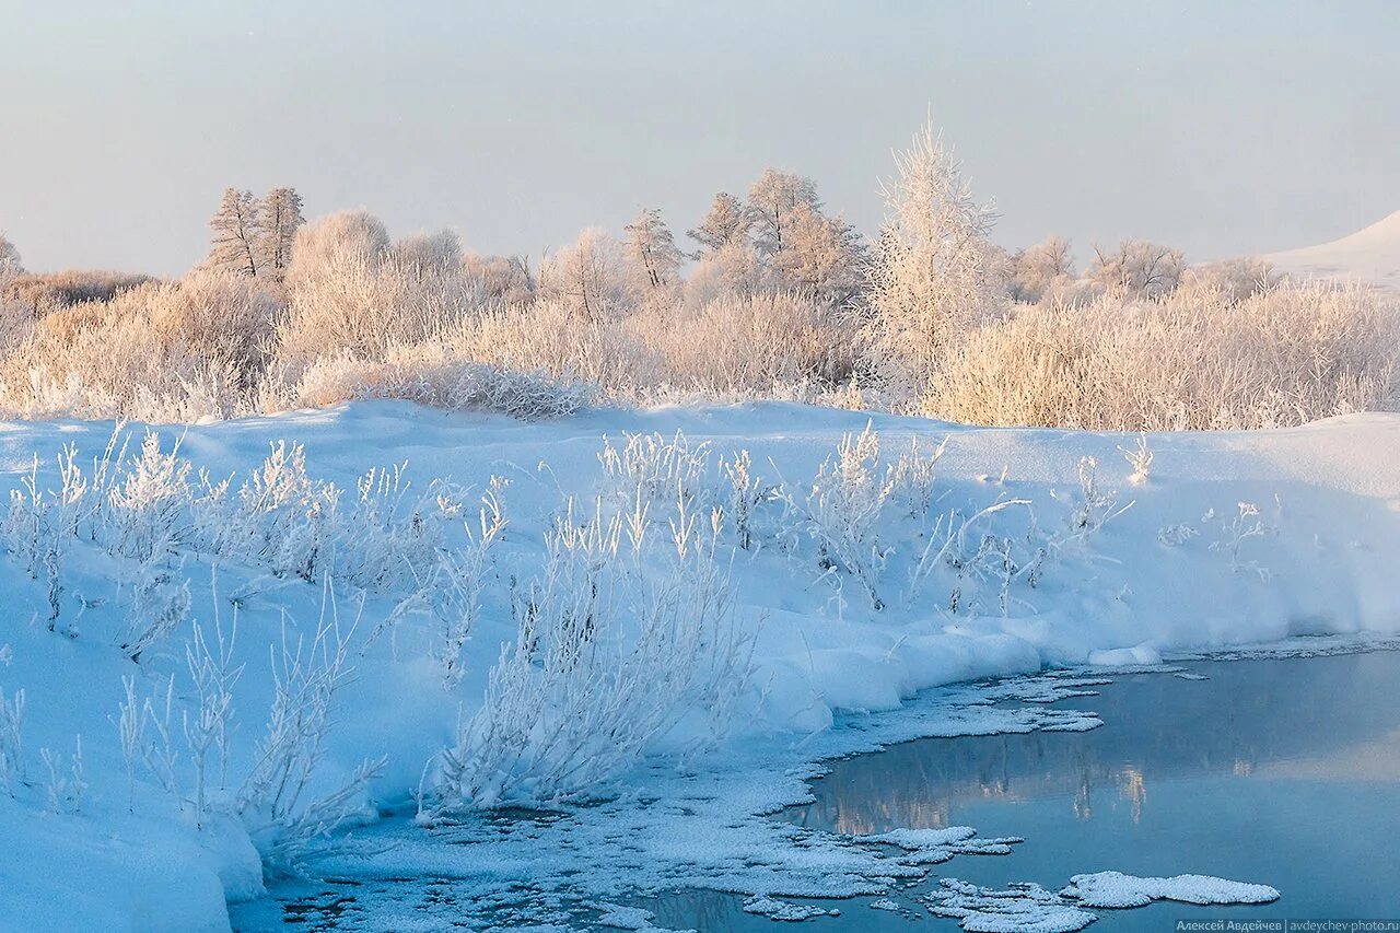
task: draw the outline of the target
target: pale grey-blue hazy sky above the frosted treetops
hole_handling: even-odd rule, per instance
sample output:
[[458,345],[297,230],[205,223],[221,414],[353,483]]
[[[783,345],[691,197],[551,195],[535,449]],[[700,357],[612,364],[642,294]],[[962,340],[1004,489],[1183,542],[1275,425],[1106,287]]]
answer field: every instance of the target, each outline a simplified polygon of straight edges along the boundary
[[925,118],[994,238],[1208,261],[1400,210],[1393,0],[0,0],[0,233],[176,275],[227,186],[542,251],[764,167],[867,234]]

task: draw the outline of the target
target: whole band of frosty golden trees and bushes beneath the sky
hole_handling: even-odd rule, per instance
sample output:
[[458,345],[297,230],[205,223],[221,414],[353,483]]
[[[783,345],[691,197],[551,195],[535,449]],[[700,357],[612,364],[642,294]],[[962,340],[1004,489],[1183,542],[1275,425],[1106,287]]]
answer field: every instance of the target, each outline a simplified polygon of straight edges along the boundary
[[365,212],[228,189],[176,282],[27,275],[0,240],[0,413],[230,417],[407,398],[522,417],[588,403],[799,398],[1093,429],[1295,424],[1394,401],[1397,314],[1257,261],[1190,266],[1141,240],[1075,268],[990,241],[928,127],[896,153],[867,242],[769,170],[686,238],[643,210],[538,262],[393,240]]

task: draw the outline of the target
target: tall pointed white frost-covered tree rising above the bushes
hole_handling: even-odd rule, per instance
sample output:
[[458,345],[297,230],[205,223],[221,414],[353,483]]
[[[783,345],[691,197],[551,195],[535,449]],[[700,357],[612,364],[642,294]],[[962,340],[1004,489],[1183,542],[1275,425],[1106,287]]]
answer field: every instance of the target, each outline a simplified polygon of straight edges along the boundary
[[995,214],[973,198],[931,125],[895,153],[895,168],[881,185],[886,220],[869,305],[885,357],[917,380],[960,331],[995,310],[998,263],[987,240]]

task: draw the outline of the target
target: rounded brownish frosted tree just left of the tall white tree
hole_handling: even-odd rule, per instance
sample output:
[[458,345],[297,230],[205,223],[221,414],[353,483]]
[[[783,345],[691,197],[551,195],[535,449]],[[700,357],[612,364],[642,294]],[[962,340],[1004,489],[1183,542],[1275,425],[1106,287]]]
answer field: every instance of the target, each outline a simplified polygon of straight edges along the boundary
[[827,308],[848,307],[865,282],[865,244],[840,217],[799,203],[788,216],[785,244],[771,258],[778,284]]

